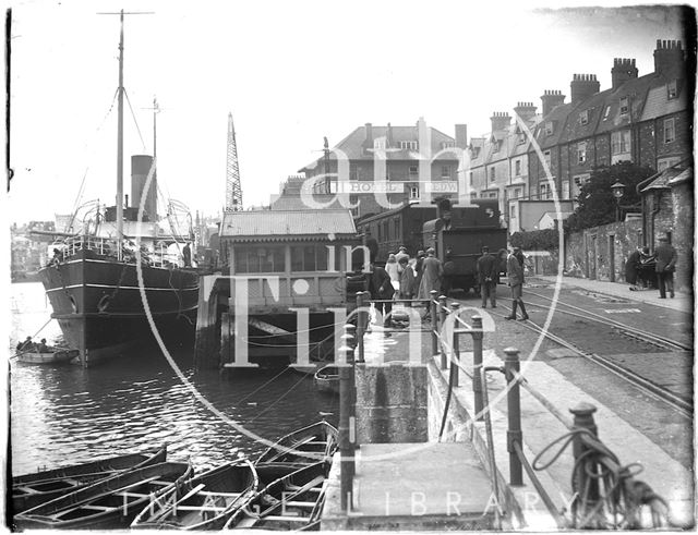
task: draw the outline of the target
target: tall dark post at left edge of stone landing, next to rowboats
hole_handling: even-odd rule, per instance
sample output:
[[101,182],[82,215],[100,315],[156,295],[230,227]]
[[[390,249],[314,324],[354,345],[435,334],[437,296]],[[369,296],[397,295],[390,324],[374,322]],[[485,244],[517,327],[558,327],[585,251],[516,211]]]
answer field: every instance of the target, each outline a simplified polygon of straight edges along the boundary
[[353,376],[353,351],[347,345],[339,348],[344,353],[347,364],[350,366],[339,366],[339,487],[340,506],[342,511],[351,510],[351,496],[353,494],[354,475],[354,446],[351,442],[352,415],[352,376]]

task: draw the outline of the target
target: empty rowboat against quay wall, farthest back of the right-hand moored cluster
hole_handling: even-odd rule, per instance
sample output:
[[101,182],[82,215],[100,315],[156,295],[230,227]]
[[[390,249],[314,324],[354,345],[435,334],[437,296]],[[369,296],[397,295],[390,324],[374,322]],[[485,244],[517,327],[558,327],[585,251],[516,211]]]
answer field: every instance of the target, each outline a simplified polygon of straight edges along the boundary
[[281,437],[267,448],[256,463],[327,461],[337,450],[337,429],[325,421],[317,422]]

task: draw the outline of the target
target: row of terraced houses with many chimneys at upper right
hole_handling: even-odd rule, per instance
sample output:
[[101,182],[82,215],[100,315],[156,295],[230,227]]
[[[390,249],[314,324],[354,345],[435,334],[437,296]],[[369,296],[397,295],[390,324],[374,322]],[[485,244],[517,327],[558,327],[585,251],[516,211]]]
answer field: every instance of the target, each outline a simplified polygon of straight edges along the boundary
[[[509,125],[506,114],[495,114],[497,121],[493,120],[482,149],[486,153],[488,146],[506,144],[508,175],[498,177],[507,171],[500,171],[503,166],[495,151],[484,159],[473,157],[478,144],[471,141],[469,172],[473,179],[488,174],[484,181],[474,180],[474,195],[502,198],[510,232],[533,230],[541,216],[555,211],[553,192],[569,202],[563,204],[563,211],[571,211],[573,200],[595,167],[630,160],[661,171],[690,157],[689,76],[685,50],[676,40],[657,41],[654,71],[643,76],[638,76],[635,59],[614,59],[612,86],[603,92],[595,74],[574,74],[569,102],[565,104],[561,90],[545,90],[541,117],[534,115],[534,109],[529,115],[521,104],[515,109],[532,124],[540,154],[534,144],[521,139],[516,122]],[[500,123],[500,115],[506,124]],[[516,181],[521,182],[519,191]]]

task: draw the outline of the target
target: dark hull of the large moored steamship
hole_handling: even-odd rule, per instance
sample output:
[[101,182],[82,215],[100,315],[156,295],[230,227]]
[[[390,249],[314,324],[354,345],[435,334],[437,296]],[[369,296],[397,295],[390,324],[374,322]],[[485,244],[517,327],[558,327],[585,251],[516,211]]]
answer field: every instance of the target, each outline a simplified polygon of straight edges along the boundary
[[[53,314],[83,363],[113,356],[153,338],[148,316],[161,338],[190,332],[196,317],[198,275],[184,269],[142,266],[81,251],[39,271]],[[143,296],[145,294],[145,299]],[[146,306],[147,304],[147,306]]]

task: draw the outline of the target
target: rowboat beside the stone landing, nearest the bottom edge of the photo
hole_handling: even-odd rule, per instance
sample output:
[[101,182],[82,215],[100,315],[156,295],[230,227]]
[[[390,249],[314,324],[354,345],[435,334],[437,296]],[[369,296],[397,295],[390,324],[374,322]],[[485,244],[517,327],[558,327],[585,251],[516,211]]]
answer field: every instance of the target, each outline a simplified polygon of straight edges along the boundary
[[284,531],[318,527],[325,501],[325,463],[309,464],[275,481],[238,509],[225,527]]

